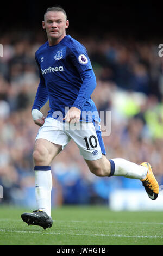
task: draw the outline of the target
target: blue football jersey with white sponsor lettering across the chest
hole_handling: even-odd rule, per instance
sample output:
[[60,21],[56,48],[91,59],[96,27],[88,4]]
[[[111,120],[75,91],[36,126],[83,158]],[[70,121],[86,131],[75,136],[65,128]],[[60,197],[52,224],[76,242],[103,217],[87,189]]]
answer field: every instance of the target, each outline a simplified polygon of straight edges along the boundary
[[[49,107],[47,117],[57,118],[61,112],[65,116],[65,107],[71,108],[77,99],[83,84],[82,72],[92,70],[86,48],[70,35],[66,35],[57,45],[49,46],[45,42],[35,53],[40,71],[40,83],[46,87]],[[42,95],[43,96],[43,95]],[[34,105],[37,99],[35,99]],[[95,103],[91,97],[81,109],[81,120],[89,120],[85,113],[93,113],[93,119],[99,121]],[[82,119],[83,118],[83,119]],[[86,120],[85,120],[86,119]]]

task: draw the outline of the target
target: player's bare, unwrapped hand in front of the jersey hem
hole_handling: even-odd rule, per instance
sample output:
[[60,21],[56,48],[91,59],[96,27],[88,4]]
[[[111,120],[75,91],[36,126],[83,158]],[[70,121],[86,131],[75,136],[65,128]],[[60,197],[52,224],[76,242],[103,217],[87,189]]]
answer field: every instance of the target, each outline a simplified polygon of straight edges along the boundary
[[71,107],[65,115],[63,120],[66,120],[70,124],[79,123],[81,111],[76,107]]

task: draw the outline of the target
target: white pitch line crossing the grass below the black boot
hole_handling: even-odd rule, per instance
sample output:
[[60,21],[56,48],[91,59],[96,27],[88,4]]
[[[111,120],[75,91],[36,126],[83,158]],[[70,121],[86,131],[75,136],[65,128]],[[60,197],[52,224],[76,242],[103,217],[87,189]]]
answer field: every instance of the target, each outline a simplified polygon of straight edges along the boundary
[[105,234],[74,234],[74,233],[58,233],[58,232],[46,232],[46,231],[20,231],[20,230],[4,230],[0,229],[0,232],[8,232],[8,233],[32,233],[32,234],[43,234],[43,235],[72,235],[72,236],[105,236],[105,237],[121,237],[121,238],[147,238],[147,239],[163,239],[163,236],[141,236],[141,235],[105,235]]

